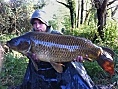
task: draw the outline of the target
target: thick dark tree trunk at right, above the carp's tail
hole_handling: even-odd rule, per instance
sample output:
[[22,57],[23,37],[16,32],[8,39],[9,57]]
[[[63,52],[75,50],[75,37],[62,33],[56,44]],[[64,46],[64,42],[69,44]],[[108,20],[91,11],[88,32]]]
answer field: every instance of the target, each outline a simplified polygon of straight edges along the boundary
[[[102,41],[104,41],[104,31],[103,28],[106,25],[106,14],[107,14],[107,3],[108,0],[104,0],[103,2],[98,0],[94,0],[97,8],[97,17],[98,17],[98,35],[100,36],[100,38],[102,39]],[[93,38],[93,42],[98,38],[98,36],[95,34],[94,38]]]

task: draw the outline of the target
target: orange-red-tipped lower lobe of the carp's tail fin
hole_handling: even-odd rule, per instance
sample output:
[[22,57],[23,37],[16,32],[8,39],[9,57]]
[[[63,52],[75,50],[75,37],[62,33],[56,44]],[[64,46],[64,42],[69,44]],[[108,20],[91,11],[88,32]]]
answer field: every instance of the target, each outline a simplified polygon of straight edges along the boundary
[[108,72],[111,76],[114,75],[114,62],[111,55],[104,51],[103,54],[97,59],[98,64],[102,67],[103,70]]

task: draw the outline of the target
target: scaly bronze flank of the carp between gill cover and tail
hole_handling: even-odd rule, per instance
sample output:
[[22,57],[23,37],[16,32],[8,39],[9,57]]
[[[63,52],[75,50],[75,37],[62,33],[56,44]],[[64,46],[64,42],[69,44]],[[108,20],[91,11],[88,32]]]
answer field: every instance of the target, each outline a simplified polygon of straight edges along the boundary
[[[40,34],[40,36],[39,34],[35,34],[31,38],[33,38],[32,39],[34,41],[33,44],[37,42],[36,43],[37,45],[38,44],[43,45],[42,47],[37,46],[36,48],[39,49],[33,50],[33,53],[37,53],[37,51],[39,50],[39,53],[37,53],[37,55],[40,55],[40,50],[43,51],[44,49],[48,50],[50,55],[47,55],[45,53],[44,54],[49,56],[47,58],[49,58],[50,61],[54,62],[72,61],[74,58],[77,58],[78,55],[82,55],[83,57],[88,55],[90,56],[90,58],[95,59],[102,52],[100,47],[93,45],[89,40],[84,38],[79,38],[74,36],[68,37],[60,35],[49,35],[49,36],[47,35],[48,34],[45,33]],[[44,60],[41,58],[39,59],[42,61]]]

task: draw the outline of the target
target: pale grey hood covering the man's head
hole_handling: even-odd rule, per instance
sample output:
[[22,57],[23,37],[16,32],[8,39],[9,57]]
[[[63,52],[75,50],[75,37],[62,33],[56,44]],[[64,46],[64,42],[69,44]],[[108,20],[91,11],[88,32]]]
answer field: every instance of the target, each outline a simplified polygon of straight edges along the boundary
[[48,26],[48,19],[46,12],[43,10],[35,10],[32,14],[32,17],[30,19],[30,23],[33,24],[33,19],[39,19],[41,20],[44,24]]

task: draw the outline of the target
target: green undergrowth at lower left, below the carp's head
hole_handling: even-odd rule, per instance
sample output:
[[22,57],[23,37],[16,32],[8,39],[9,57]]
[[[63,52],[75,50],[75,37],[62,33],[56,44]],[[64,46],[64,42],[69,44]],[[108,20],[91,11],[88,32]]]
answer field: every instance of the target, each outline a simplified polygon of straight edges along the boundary
[[16,52],[7,53],[4,57],[4,65],[0,74],[2,89],[5,86],[21,83],[27,65],[27,58]]

